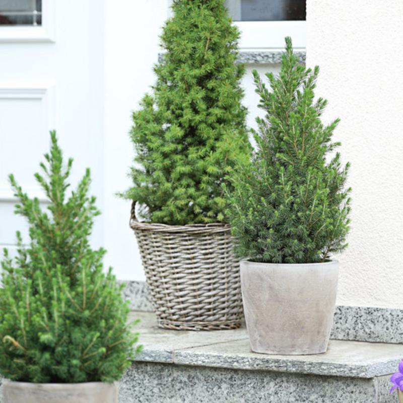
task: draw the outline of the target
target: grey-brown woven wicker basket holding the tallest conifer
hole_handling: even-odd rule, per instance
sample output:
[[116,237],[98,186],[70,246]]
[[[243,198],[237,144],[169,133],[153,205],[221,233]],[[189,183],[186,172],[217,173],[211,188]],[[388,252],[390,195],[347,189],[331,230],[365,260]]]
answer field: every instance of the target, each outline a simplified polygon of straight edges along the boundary
[[133,203],[130,227],[160,327],[219,330],[241,325],[239,261],[228,225],[140,223]]

